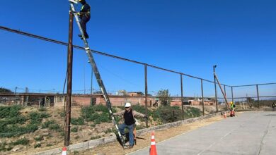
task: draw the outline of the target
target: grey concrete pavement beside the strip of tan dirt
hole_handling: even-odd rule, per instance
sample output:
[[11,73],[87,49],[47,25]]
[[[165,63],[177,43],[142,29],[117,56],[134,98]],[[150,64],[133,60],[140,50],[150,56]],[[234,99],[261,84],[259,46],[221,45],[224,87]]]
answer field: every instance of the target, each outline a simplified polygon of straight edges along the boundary
[[[156,144],[157,154],[276,154],[276,112],[246,112]],[[132,154],[149,154],[149,147]]]

